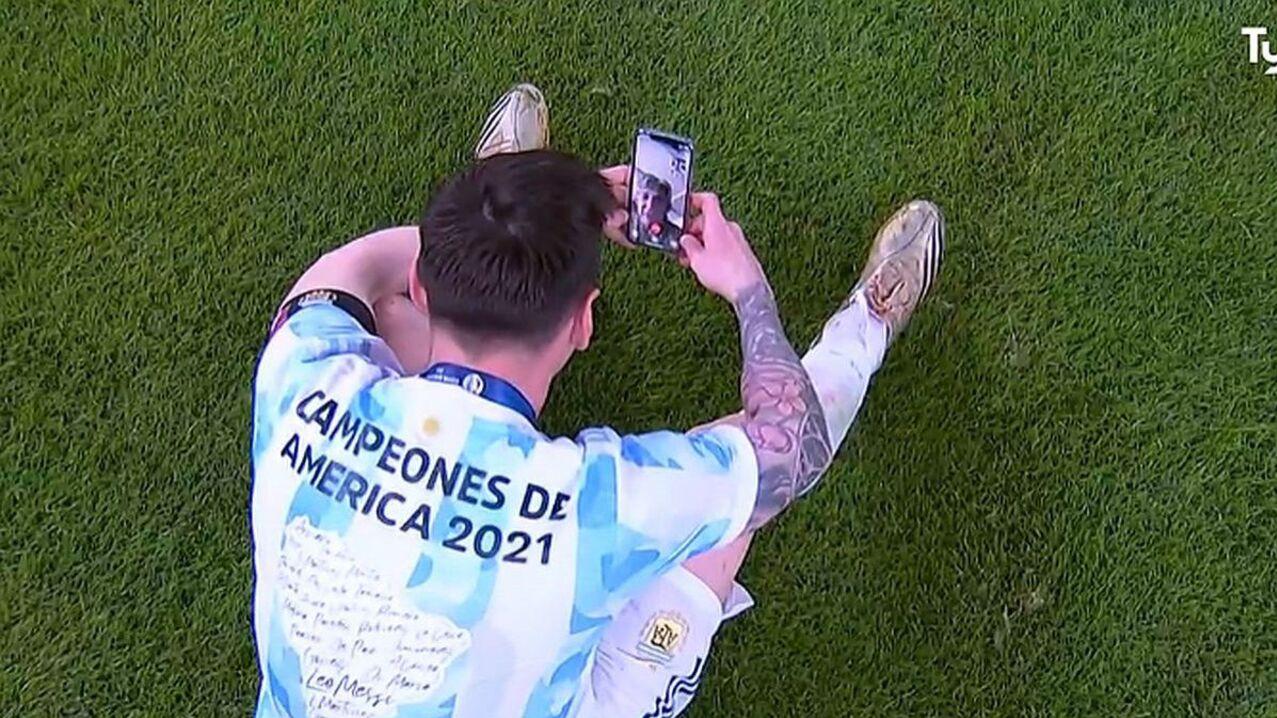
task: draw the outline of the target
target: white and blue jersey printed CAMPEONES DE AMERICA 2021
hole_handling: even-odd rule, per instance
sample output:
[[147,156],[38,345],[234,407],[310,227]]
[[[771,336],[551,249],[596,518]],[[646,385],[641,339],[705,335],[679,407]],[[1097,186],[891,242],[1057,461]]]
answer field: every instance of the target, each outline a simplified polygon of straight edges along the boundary
[[349,295],[290,312],[254,383],[261,718],[575,715],[626,602],[744,529],[736,427],[549,438],[497,377],[404,376]]

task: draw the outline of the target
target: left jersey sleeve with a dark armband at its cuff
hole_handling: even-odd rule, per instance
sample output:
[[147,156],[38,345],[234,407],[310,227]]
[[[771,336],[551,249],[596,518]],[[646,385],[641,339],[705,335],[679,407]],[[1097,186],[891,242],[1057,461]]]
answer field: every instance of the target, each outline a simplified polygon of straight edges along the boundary
[[285,303],[253,381],[254,447],[269,441],[303,392],[352,395],[398,376],[395,353],[374,331],[368,305],[342,291],[314,290]]

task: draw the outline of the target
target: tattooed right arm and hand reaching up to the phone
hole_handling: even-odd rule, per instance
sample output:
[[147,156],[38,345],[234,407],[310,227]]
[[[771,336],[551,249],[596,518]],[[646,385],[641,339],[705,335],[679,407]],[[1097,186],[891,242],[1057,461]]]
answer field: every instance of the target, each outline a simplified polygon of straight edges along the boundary
[[736,222],[713,194],[683,238],[684,263],[706,289],[732,303],[741,323],[741,400],[744,411],[722,419],[744,431],[759,462],[759,493],[748,528],[757,529],[803,496],[833,457],[825,416],[798,353],[785,337],[771,287]]

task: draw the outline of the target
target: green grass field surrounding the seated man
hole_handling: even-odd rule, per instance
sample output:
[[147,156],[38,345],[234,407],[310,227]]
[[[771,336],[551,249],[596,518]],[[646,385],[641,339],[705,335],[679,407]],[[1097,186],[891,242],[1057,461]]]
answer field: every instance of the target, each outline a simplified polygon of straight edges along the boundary
[[[249,378],[492,97],[690,134],[806,344],[900,202],[939,293],[756,542],[696,717],[1277,715],[1277,78],[1254,1],[0,4],[0,714],[246,715]],[[734,406],[610,250],[549,431]]]

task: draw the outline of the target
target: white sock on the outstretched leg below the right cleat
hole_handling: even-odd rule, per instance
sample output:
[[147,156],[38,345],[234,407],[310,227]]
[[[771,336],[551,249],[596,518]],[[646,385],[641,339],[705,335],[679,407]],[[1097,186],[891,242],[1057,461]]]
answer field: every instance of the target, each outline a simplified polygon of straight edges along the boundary
[[865,293],[858,291],[850,305],[825,325],[820,341],[802,358],[825,410],[834,451],[856,420],[870,377],[882,364],[886,344],[886,325],[870,312]]

